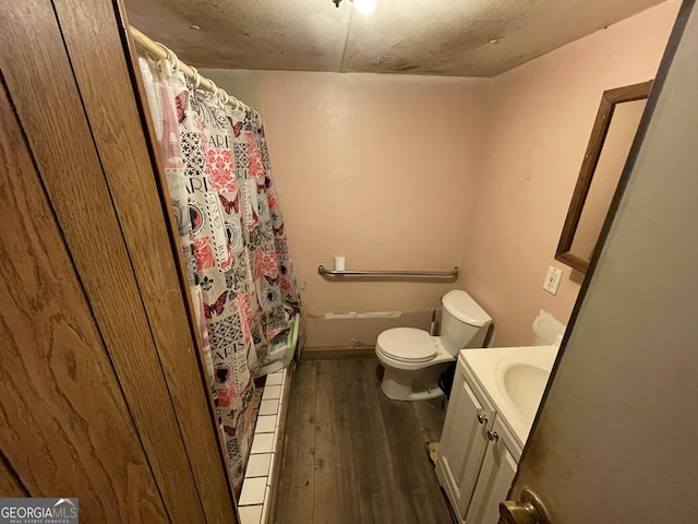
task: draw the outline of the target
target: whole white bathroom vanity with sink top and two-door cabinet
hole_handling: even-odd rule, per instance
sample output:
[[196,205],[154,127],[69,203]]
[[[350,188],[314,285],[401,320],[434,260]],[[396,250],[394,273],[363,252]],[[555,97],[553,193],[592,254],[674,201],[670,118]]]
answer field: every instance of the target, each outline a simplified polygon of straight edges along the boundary
[[495,524],[558,346],[464,349],[436,476],[461,524]]

